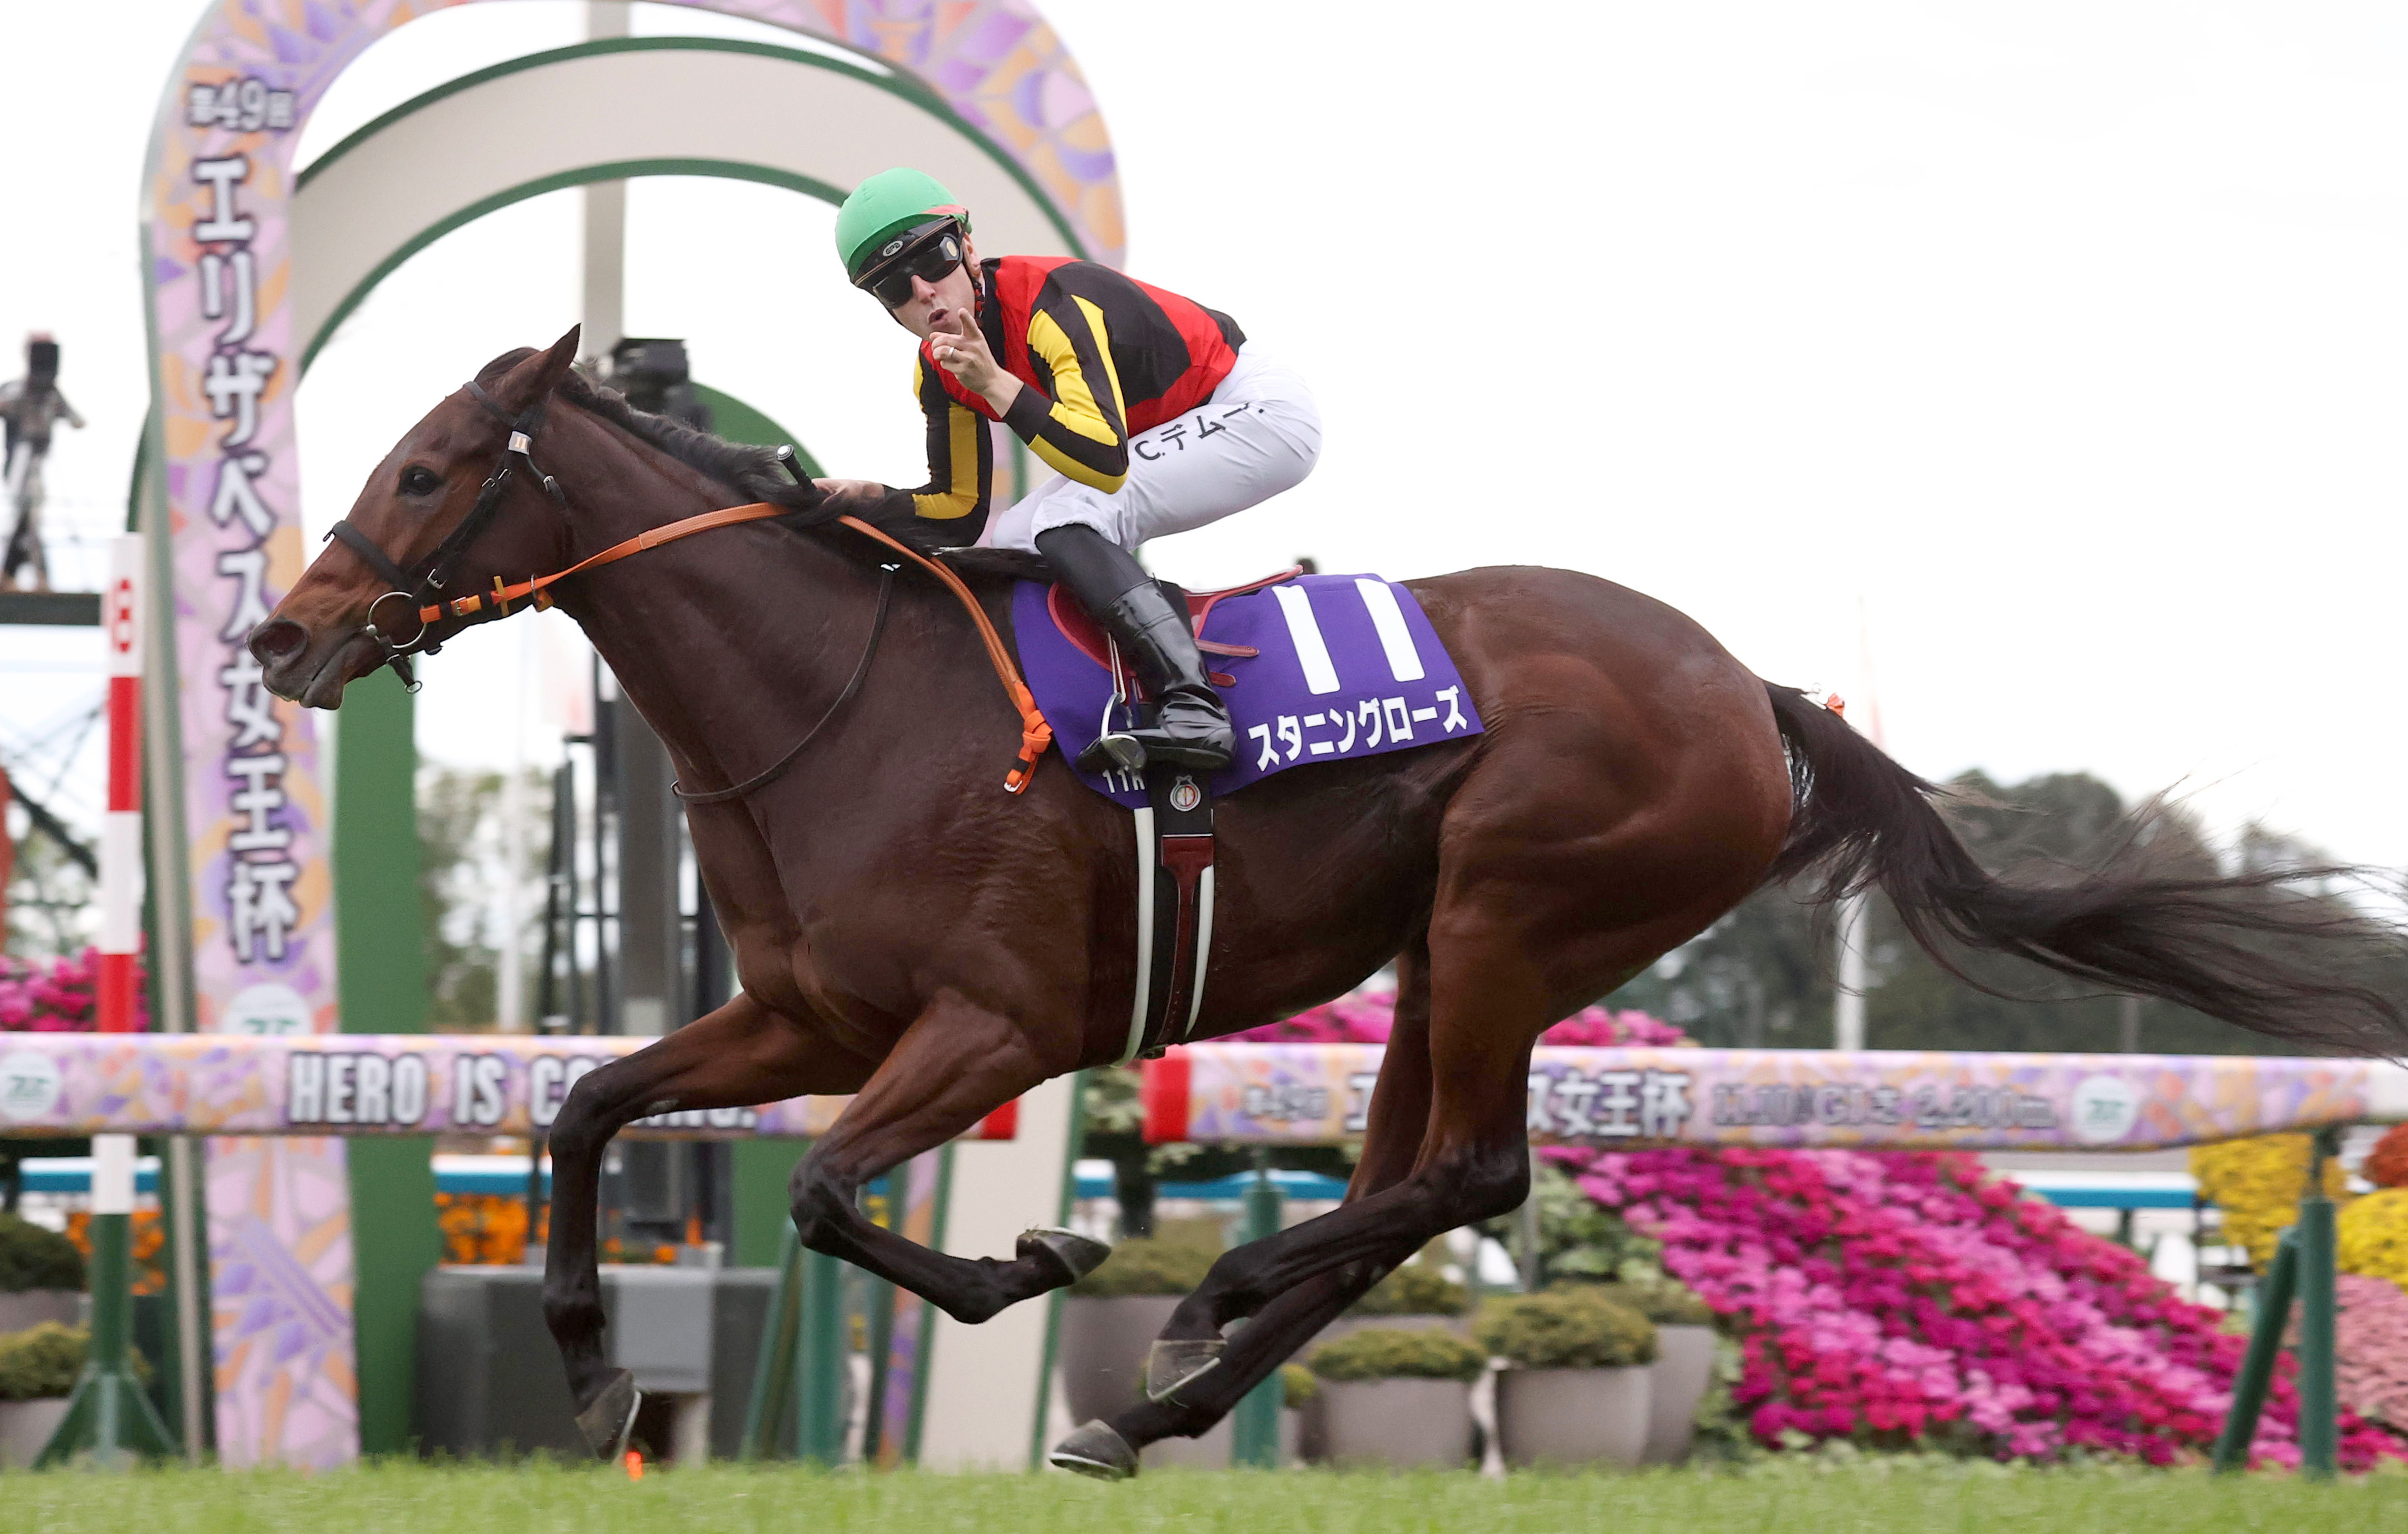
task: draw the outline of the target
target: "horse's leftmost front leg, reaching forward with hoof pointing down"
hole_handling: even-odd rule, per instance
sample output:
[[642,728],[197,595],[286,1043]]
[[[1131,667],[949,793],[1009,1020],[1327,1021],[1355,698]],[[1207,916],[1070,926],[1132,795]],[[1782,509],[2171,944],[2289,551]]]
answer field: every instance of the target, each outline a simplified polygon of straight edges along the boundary
[[568,1370],[578,1428],[609,1459],[636,1421],[636,1385],[602,1351],[602,1276],[595,1211],[602,1149],[638,1117],[679,1108],[749,1108],[780,1098],[848,1093],[869,1062],[811,1038],[749,995],[710,1016],[588,1072],[551,1122],[551,1243],[544,1252],[544,1322]]

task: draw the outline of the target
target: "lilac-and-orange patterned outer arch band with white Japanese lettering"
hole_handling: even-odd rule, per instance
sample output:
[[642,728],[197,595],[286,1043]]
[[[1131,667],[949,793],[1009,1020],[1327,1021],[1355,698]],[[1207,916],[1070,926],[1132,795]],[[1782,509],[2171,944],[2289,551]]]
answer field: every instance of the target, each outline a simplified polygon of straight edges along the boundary
[[[294,455],[294,142],[388,31],[467,0],[219,0],[144,169],[144,287],[169,542],[195,1026],[335,1031],[327,792],[308,715],[243,638],[306,564]],[[884,58],[1002,144],[1103,260],[1120,193],[1093,96],[1028,0],[684,0]],[[441,166],[429,166],[441,173]],[[352,1235],[337,1139],[214,1141],[217,1435],[226,1464],[356,1455]]]

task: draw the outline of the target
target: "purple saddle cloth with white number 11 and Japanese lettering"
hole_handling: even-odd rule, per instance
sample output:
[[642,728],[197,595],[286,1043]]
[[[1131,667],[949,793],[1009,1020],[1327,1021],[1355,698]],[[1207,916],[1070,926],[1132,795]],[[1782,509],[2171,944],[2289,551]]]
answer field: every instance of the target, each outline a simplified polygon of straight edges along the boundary
[[[1047,588],[1023,580],[1011,592],[1011,629],[1028,691],[1035,694],[1055,747],[1076,761],[1105,727],[1127,715],[1112,703],[1112,674],[1074,645],[1045,609]],[[1238,756],[1216,773],[1211,790],[1228,797],[1298,766],[1411,751],[1481,732],[1471,689],[1438,631],[1406,588],[1377,576],[1298,576],[1279,585],[1223,597],[1204,638],[1245,645],[1259,655],[1204,655],[1230,677],[1221,691],[1238,727]],[[1098,795],[1141,809],[1144,778],[1079,773]]]

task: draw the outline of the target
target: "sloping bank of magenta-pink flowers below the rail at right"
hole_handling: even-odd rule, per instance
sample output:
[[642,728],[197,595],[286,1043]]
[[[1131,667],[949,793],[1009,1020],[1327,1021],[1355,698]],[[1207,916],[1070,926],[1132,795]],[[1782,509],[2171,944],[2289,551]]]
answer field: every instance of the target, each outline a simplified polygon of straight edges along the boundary
[[[2213,1447],[2244,1339],[2126,1247],[1938,1151],[1546,1151],[1741,1339],[1765,1445],[1849,1438],[2148,1464]],[[2408,1296],[2403,1296],[2408,1298]],[[2297,1464],[2290,1361],[2256,1459]],[[2341,1459],[2408,1459],[2345,1414]]]

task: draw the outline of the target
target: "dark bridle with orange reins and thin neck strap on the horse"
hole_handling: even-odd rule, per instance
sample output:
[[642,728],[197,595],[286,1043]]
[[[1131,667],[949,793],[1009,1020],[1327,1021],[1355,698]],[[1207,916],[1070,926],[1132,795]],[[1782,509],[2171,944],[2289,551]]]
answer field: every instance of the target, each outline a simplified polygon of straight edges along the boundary
[[[518,470],[520,462],[525,462],[527,472],[535,474],[537,484],[544,486],[544,494],[551,496],[551,503],[559,506],[561,511],[568,511],[568,494],[561,491],[561,482],[547,474],[542,465],[535,462],[535,431],[544,421],[544,405],[549,395],[537,397],[535,405],[527,405],[527,409],[513,417],[494,400],[494,395],[484,393],[484,388],[474,378],[467,380],[467,393],[477,405],[486,409],[486,414],[491,414],[494,419],[498,419],[503,426],[510,429],[510,438],[501,453],[501,462],[494,465],[494,472],[486,474],[484,486],[479,486],[477,503],[470,506],[470,513],[460,518],[458,527],[443,535],[443,542],[436,544],[433,551],[426,554],[426,559],[417,561],[414,573],[397,566],[393,556],[378,549],[376,539],[361,532],[359,525],[352,523],[349,518],[327,527],[327,537],[342,539],[344,549],[359,554],[368,564],[368,568],[385,580],[388,588],[385,595],[368,604],[368,619],[366,624],[361,624],[359,631],[383,648],[385,657],[378,662],[378,667],[390,665],[393,674],[400,677],[402,686],[407,686],[409,691],[419,691],[419,682],[409,672],[409,657],[433,655],[443,648],[441,643],[426,643],[426,631],[441,621],[455,621],[465,629],[470,624],[489,624],[494,619],[510,616],[513,602],[532,604],[537,609],[551,607],[549,588],[559,580],[568,580],[580,571],[614,564],[619,559],[626,559],[628,554],[643,554],[645,549],[657,549],[660,544],[669,544],[681,537],[694,537],[696,532],[710,532],[713,527],[737,527],[742,523],[792,518],[799,511],[795,506],[778,506],[775,501],[754,501],[751,506],[720,506],[718,511],[706,511],[691,518],[681,518],[662,527],[645,527],[636,537],[621,539],[602,549],[600,554],[588,554],[585,559],[576,561],[563,571],[551,571],[549,576],[530,576],[527,580],[518,583],[506,583],[501,576],[494,576],[491,590],[445,597],[443,592],[450,585],[455,566],[460,564],[462,554],[467,554],[467,547],[477,542],[477,535],[482,535],[486,525],[494,520],[494,513],[501,508],[501,496],[510,489],[510,474]],[[804,482],[802,470],[795,465],[795,448],[780,448],[778,462],[785,465],[785,472],[792,474],[797,484]],[[1028,783],[1035,778],[1038,756],[1043,756],[1045,747],[1052,744],[1052,725],[1045,722],[1045,715],[1038,710],[1035,698],[1028,694],[1028,684],[1021,682],[1021,669],[1011,660],[1011,650],[1004,645],[1002,636],[995,631],[995,621],[987,619],[987,609],[978,604],[978,597],[970,592],[968,585],[963,585],[961,576],[937,564],[934,559],[920,554],[910,544],[898,542],[896,537],[881,532],[879,527],[872,527],[869,523],[855,515],[840,515],[836,518],[836,523],[886,544],[891,551],[901,554],[903,559],[932,573],[939,583],[944,583],[946,590],[954,592],[954,597],[970,614],[970,624],[978,629],[978,638],[987,645],[987,662],[995,667],[997,679],[1004,684],[1004,696],[1011,701],[1011,708],[1019,710],[1021,715],[1021,751],[1011,771],[1004,775],[1004,792],[1011,795],[1023,792]],[[886,604],[889,597],[893,595],[893,578],[898,568],[901,566],[889,564],[879,576],[879,604],[877,614],[869,621],[869,643],[862,650],[860,665],[852,667],[852,679],[845,682],[845,691],[836,696],[836,703],[828,706],[828,713],[824,713],[819,722],[811,725],[811,730],[799,742],[795,742],[792,749],[787,749],[785,756],[773,761],[761,773],[754,773],[751,778],[737,783],[734,787],[722,787],[713,792],[686,792],[684,787],[672,785],[677,787],[677,795],[681,800],[691,804],[720,804],[727,800],[742,800],[751,790],[761,787],[763,783],[783,773],[802,754],[802,749],[819,737],[819,732],[828,725],[828,720],[833,720],[836,713],[852,701],[852,694],[860,691],[862,679],[869,674],[869,657],[877,655],[879,633],[886,631]],[[385,636],[385,631],[378,629],[376,619],[376,614],[385,607],[385,602],[395,600],[400,600],[405,612],[417,616],[419,624],[405,641]],[[373,669],[376,667],[371,667],[371,672]]]

